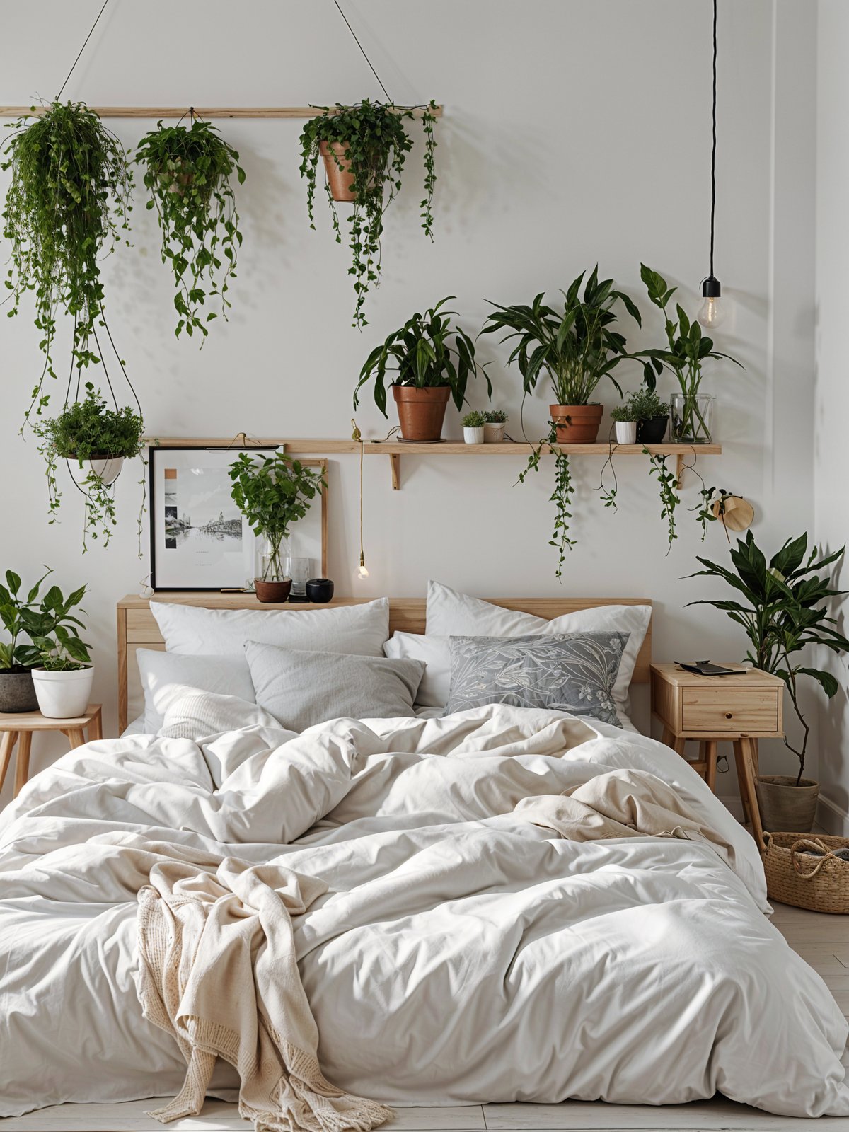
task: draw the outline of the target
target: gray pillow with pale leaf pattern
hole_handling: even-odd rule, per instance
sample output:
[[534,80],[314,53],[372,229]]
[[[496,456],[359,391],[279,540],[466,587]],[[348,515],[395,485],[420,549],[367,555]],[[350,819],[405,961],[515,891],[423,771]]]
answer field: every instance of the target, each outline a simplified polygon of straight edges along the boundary
[[482,704],[512,704],[591,715],[619,727],[612,692],[628,636],[453,636],[445,714]]

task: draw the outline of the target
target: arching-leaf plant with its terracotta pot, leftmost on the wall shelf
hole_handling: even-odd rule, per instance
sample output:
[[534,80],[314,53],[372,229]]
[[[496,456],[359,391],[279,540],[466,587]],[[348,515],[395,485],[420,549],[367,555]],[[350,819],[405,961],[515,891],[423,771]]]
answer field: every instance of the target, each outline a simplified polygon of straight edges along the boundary
[[487,394],[492,396],[486,367],[474,360],[474,343],[460,326],[452,326],[452,316],[456,316],[456,311],[441,309],[453,298],[440,299],[423,315],[414,314],[385,342],[375,346],[360,370],[360,380],[354,389],[354,409],[359,405],[362,386],[374,381],[375,403],[384,417],[387,415],[386,375],[395,374],[392,394],[403,440],[438,440],[448,398],[452,397],[457,409],[462,409],[470,377],[482,374]]

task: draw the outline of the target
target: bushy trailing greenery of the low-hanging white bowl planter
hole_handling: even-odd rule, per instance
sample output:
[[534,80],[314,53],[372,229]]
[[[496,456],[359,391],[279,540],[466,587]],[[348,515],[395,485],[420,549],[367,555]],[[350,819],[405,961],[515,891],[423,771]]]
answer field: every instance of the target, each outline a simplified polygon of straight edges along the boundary
[[[44,457],[48,475],[48,507],[51,523],[57,522],[62,492],[57,480],[60,460],[74,462],[84,469],[93,460],[129,460],[140,456],[144,449],[145,426],[139,413],[125,405],[114,410],[106,406],[105,398],[91,381],[86,384],[86,395],[65,406],[58,417],[42,417],[33,430],[40,438],[38,451]],[[144,461],[143,461],[144,462]],[[139,557],[142,555],[142,515],[147,500],[145,477],[142,511],[139,513]],[[86,497],[85,522],[83,526],[83,551],[87,549],[91,535],[103,539],[109,544],[112,529],[117,525],[114,480],[109,482],[89,465],[85,477],[77,480]]]

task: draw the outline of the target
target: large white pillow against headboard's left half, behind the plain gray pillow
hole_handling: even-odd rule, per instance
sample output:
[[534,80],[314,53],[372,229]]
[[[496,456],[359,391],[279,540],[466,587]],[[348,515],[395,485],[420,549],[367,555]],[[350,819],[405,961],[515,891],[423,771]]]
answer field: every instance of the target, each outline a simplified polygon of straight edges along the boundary
[[[214,653],[245,660],[245,644],[383,657],[389,635],[387,598],[337,609],[203,609],[152,601],[151,611],[169,652]],[[189,681],[185,681],[189,683]]]

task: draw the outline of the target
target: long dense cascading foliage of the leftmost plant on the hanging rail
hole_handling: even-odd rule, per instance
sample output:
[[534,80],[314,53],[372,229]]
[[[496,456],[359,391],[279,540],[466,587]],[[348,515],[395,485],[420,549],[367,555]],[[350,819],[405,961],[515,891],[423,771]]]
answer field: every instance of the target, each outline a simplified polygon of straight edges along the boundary
[[[12,317],[28,291],[35,294],[35,326],[44,354],[25,414],[29,421],[50,400],[45,377],[55,378],[57,311],[74,318],[71,365],[100,362],[96,324],[103,318],[101,261],[129,229],[132,173],[118,138],[82,102],[53,102],[41,118],[25,117],[2,151],[11,170],[3,235],[11,245],[6,286]],[[91,349],[94,337],[96,352]]]

